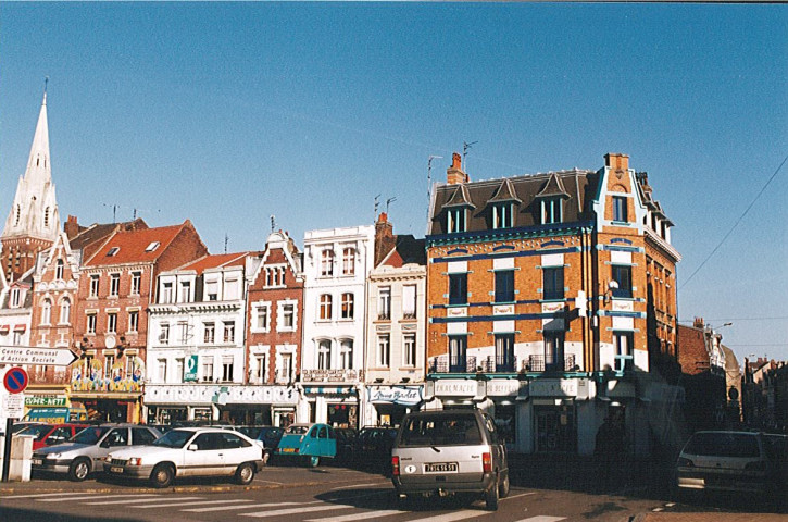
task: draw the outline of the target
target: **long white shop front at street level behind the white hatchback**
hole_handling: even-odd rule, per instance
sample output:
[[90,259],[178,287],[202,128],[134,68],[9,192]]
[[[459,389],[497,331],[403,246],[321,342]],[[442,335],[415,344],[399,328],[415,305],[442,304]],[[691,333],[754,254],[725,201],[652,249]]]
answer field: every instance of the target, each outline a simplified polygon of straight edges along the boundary
[[149,424],[188,421],[287,426],[297,403],[295,386],[151,384],[145,393]]

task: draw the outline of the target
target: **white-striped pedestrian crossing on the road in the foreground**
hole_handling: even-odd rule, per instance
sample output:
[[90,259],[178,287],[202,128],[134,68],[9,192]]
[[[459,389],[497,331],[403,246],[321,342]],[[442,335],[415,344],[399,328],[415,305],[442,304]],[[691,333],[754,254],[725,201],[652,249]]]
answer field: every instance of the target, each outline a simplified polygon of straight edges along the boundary
[[[189,515],[189,520],[195,514],[205,513],[207,515],[222,515],[226,513],[228,517],[238,518],[239,520],[253,519],[275,519],[287,518],[288,520],[299,520],[303,522],[355,522],[363,520],[389,520],[391,522],[460,522],[463,520],[500,520],[495,517],[495,512],[485,511],[483,509],[465,508],[452,510],[449,512],[430,512],[430,511],[406,511],[403,509],[364,509],[355,505],[354,499],[367,497],[372,498],[390,492],[370,492],[361,495],[336,496],[336,498],[327,500],[311,501],[268,501],[260,502],[253,498],[222,498],[215,496],[200,495],[171,495],[171,494],[85,494],[79,495],[73,492],[64,493],[47,493],[47,494],[29,494],[29,495],[9,495],[3,496],[0,500],[13,501],[22,500],[29,506],[30,502],[64,502],[68,505],[82,505],[93,508],[122,508],[128,510],[170,510],[173,512],[193,513]],[[531,493],[523,493],[514,495],[501,501],[511,500],[517,497],[531,495]],[[129,512],[129,511],[127,511]],[[493,517],[490,517],[493,515]],[[243,519],[240,519],[240,518]],[[564,517],[534,515],[516,522],[560,522],[565,520]]]

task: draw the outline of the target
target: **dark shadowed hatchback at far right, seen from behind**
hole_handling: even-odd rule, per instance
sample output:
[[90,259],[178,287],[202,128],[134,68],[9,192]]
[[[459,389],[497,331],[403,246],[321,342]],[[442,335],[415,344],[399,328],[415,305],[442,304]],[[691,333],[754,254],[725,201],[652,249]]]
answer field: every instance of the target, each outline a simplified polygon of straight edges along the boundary
[[675,486],[687,492],[776,493],[777,462],[761,433],[696,432],[676,462]]

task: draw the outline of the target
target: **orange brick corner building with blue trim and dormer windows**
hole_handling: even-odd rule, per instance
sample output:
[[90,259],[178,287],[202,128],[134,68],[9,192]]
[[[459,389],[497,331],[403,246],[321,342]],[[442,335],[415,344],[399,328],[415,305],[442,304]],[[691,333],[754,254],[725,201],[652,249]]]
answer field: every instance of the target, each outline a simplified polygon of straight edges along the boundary
[[430,197],[426,407],[486,409],[524,453],[592,455],[605,422],[622,453],[670,444],[672,226],[624,154],[479,182],[454,154]]

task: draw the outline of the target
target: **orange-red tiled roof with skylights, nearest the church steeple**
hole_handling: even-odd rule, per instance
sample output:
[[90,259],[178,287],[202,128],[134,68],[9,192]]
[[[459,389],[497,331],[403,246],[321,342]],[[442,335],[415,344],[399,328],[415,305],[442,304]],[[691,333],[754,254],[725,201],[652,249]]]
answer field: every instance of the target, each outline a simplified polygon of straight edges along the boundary
[[[184,228],[180,225],[118,231],[87,262],[86,266],[154,262]],[[151,248],[154,244],[155,248]],[[115,250],[116,249],[116,250]],[[111,256],[110,252],[113,252]]]

